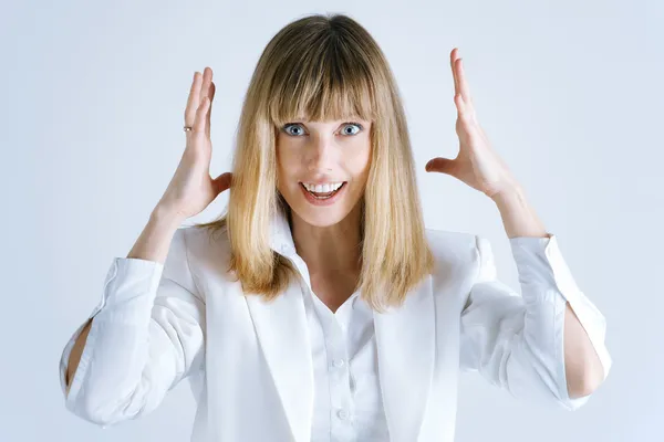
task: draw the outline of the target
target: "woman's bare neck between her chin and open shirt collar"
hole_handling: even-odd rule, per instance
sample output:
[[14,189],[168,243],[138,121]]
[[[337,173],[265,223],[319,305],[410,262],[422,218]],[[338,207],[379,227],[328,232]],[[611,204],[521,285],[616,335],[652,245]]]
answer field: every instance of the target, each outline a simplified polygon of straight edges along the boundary
[[307,223],[291,211],[289,218],[295,250],[311,274],[360,272],[361,206],[361,202],[355,204],[336,224],[322,228]]

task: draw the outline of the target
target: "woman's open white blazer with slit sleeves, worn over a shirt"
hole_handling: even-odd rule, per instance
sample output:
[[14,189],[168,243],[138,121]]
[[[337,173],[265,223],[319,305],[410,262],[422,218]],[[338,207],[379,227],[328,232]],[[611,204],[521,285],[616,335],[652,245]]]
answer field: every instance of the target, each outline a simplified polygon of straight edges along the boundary
[[[273,303],[243,296],[222,272],[225,234],[177,230],[164,265],[115,257],[66,408],[102,427],[154,410],[180,380],[198,408],[191,441],[307,442],[313,370],[302,286],[309,272],[287,219],[272,220],[272,249],[302,276]],[[563,360],[568,301],[604,366],[605,320],[579,290],[557,236],[513,238],[521,294],[496,278],[488,240],[427,230],[436,270],[401,308],[374,313],[378,375],[392,442],[452,442],[459,369],[477,370],[519,398],[568,410]],[[60,361],[62,391],[69,354]]]

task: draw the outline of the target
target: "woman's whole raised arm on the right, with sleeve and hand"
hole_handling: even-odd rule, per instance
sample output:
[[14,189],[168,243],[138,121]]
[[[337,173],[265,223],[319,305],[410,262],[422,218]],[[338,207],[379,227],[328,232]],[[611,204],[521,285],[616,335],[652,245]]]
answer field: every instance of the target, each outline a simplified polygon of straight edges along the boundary
[[454,159],[433,158],[425,168],[452,176],[497,203],[521,285],[519,296],[496,278],[489,242],[476,238],[478,276],[461,313],[461,366],[479,370],[515,396],[543,393],[574,409],[611,367],[604,317],[577,286],[558,239],[527,204],[479,125],[458,48],[449,61],[459,152]]

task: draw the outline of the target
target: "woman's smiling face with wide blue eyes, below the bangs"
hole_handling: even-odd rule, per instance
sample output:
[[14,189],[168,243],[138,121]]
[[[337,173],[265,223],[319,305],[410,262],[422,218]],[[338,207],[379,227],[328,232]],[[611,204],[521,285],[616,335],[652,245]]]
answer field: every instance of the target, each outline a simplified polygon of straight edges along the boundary
[[362,119],[298,120],[279,128],[278,189],[293,215],[326,227],[357,204],[369,176],[370,129]]

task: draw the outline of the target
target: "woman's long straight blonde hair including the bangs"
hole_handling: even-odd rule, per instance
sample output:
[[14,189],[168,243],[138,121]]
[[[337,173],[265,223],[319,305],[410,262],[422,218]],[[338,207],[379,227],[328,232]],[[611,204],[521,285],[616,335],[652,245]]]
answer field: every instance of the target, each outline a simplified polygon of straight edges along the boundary
[[270,220],[290,208],[277,190],[276,140],[284,123],[371,120],[371,164],[362,197],[356,288],[371,308],[401,306],[433,272],[405,113],[387,61],[344,14],[313,14],[281,29],[263,50],[242,105],[227,213],[195,224],[225,230],[229,272],[247,294],[276,298],[297,275],[270,249]]

